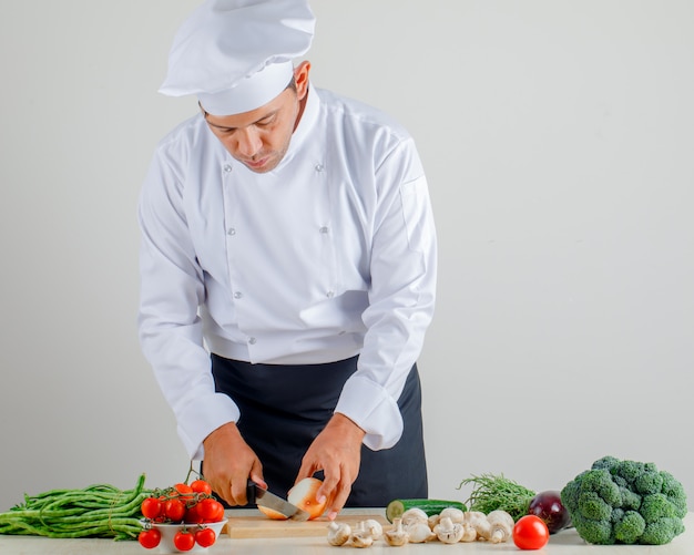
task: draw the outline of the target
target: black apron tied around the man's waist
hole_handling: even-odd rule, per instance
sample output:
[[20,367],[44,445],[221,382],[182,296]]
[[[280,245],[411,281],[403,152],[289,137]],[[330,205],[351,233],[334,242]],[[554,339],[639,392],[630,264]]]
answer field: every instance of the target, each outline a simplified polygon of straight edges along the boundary
[[[333,415],[358,357],[324,364],[252,364],[212,356],[216,390],[241,410],[237,426],[261,459],[269,491],[286,499],[302,458]],[[346,506],[386,506],[428,496],[421,389],[417,364],[398,399],[402,436],[391,449],[361,445],[359,475]],[[204,463],[203,463],[204,464]]]

